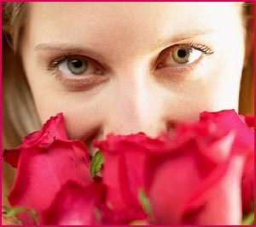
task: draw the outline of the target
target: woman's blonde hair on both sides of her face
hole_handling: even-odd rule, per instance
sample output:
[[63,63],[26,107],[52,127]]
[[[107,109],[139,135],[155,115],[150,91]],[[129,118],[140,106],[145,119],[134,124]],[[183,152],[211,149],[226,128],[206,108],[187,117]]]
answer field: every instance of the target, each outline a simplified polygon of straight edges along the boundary
[[[19,43],[22,28],[26,24],[27,3],[3,3],[3,148],[10,148],[20,144],[20,140],[27,133],[38,130],[40,122],[35,108],[32,94],[22,69],[19,57]],[[253,3],[244,3],[245,26],[253,23]],[[247,36],[253,38],[254,32],[250,29]],[[247,65],[242,71],[239,112],[254,114],[254,53],[247,51]],[[10,64],[12,63],[12,64]],[[10,173],[10,169],[3,164],[3,173]],[[3,184],[7,188],[13,182]],[[5,185],[5,186],[6,186]]]

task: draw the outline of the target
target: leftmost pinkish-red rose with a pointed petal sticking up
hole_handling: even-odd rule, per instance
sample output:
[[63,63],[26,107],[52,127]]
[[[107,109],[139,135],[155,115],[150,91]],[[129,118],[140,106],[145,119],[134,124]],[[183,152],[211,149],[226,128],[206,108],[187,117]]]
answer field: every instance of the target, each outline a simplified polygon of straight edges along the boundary
[[[5,150],[3,158],[17,167],[9,193],[12,206],[32,208],[40,216],[55,200],[62,187],[72,180],[86,187],[93,182],[89,156],[82,141],[67,139],[63,116],[50,117],[43,128],[31,133],[15,149]],[[23,224],[32,218],[20,216]]]

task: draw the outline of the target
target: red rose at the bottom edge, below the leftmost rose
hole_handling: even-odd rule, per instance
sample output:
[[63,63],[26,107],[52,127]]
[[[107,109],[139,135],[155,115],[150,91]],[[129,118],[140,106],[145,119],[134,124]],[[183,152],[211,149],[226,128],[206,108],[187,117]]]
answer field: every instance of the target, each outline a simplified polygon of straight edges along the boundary
[[92,183],[84,187],[77,182],[67,181],[56,194],[49,209],[42,214],[40,224],[101,224],[96,207],[102,203],[104,192],[103,184]]

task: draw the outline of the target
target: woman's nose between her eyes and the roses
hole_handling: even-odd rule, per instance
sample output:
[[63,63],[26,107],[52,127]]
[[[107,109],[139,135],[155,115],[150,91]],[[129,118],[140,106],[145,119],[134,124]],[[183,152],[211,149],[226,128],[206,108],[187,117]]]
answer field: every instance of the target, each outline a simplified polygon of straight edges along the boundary
[[108,133],[146,133],[156,137],[166,131],[165,94],[145,73],[116,77],[108,97],[108,116],[103,137]]

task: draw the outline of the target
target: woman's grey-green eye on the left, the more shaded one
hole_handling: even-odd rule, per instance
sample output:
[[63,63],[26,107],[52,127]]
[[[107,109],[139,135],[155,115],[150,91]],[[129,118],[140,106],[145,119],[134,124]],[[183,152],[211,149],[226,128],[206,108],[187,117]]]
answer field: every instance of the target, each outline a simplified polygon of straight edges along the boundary
[[58,70],[67,76],[84,76],[96,73],[97,69],[83,57],[69,57],[58,63]]

